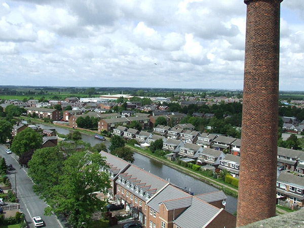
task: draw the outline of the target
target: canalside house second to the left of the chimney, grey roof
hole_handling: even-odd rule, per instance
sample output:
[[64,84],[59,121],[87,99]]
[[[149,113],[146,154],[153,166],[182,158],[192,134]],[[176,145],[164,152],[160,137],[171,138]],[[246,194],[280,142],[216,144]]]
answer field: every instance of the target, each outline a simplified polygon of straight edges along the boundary
[[203,151],[199,152],[199,157],[197,163],[200,165],[211,165],[218,167],[220,161],[225,158],[225,155],[222,151],[204,148]]

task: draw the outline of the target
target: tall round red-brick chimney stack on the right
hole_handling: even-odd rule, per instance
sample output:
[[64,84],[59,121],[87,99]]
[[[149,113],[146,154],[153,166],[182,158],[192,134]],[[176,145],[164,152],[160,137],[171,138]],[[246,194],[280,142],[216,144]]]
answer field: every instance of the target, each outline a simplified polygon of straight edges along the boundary
[[237,226],[276,214],[282,1],[244,1],[247,19]]

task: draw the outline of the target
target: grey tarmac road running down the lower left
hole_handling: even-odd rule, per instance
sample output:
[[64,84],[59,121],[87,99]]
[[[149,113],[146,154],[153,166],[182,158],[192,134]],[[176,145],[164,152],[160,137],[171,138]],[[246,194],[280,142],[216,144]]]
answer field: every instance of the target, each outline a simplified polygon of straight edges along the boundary
[[5,158],[7,164],[12,164],[15,170],[9,171],[8,177],[12,184],[12,189],[15,192],[15,173],[17,182],[17,198],[19,199],[20,209],[25,214],[26,221],[29,227],[34,227],[31,220],[34,216],[41,216],[47,227],[61,227],[64,226],[57,219],[56,216],[44,215],[44,209],[48,206],[44,200],[40,199],[32,189],[33,183],[27,176],[27,170],[21,168],[17,162],[17,158],[14,154],[6,154],[7,147],[0,144],[0,156]]

